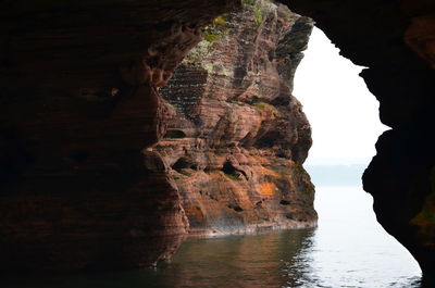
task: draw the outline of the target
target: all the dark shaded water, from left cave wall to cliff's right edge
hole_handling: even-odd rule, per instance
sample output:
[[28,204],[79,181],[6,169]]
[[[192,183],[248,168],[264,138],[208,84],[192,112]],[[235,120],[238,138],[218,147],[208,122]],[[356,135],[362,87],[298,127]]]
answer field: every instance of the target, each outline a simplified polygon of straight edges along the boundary
[[22,280],[9,287],[293,287],[302,278],[300,273],[304,273],[302,268],[299,273],[304,264],[297,255],[310,249],[312,236],[313,230],[285,230],[189,239],[171,262],[156,268],[57,277],[36,283]]

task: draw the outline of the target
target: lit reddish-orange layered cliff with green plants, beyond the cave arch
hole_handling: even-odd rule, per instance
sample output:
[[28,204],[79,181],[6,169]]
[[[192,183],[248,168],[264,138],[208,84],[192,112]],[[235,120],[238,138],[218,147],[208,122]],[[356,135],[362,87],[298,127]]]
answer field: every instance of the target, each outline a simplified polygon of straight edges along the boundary
[[174,116],[153,151],[167,164],[191,234],[315,225],[302,167],[311,129],[291,96],[312,26],[285,5],[245,3],[206,29],[161,89]]

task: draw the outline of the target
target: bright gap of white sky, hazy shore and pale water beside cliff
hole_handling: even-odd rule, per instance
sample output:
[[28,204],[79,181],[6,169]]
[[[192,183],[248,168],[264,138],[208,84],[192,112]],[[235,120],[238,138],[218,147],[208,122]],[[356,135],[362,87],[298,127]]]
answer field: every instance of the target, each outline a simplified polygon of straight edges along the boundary
[[[320,278],[338,277],[334,270],[350,271],[349,281],[361,277],[358,272],[374,279],[376,271],[390,278],[418,278],[417,261],[377,223],[373,199],[362,189],[361,176],[376,153],[377,137],[388,129],[378,120],[378,102],[359,77],[363,68],[340,57],[323,32],[314,28],[295,76],[294,95],[303,104],[313,138],[304,163],[316,187],[319,213],[312,258],[338,260],[310,265]],[[373,285],[381,287],[382,280]],[[332,283],[339,285],[338,279],[327,284]]]

